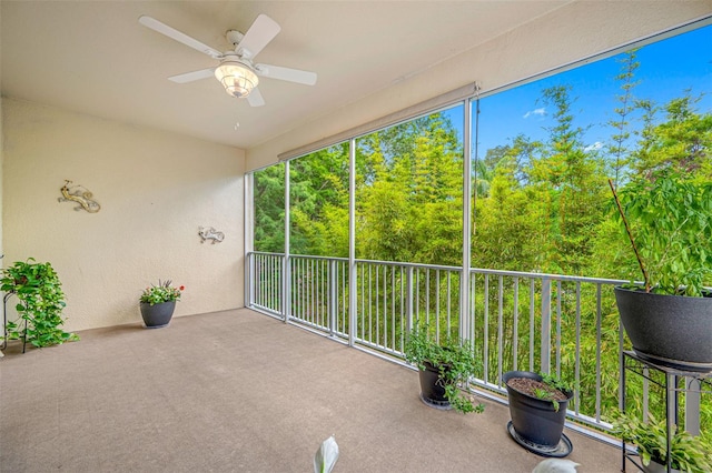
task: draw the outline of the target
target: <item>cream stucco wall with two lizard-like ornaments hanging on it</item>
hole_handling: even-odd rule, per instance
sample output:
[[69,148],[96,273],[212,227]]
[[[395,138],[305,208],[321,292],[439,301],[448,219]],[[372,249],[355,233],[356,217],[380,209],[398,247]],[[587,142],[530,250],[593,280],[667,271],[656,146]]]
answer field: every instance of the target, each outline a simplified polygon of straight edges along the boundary
[[[158,279],[186,286],[176,316],[244,305],[244,151],[7,98],[2,115],[4,265],[52,263],[67,329],[140,322]],[[58,202],[66,179],[101,210]]]

